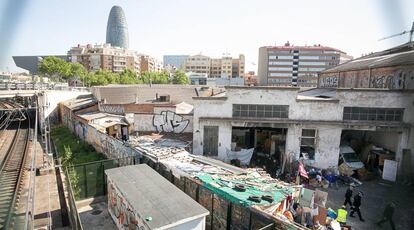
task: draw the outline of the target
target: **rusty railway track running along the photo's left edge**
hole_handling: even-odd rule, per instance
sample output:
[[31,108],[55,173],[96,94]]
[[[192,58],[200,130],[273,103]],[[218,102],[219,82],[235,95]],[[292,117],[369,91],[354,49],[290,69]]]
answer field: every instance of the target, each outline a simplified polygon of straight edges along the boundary
[[17,122],[14,139],[0,164],[0,229],[13,229],[20,183],[29,146],[28,120]]

